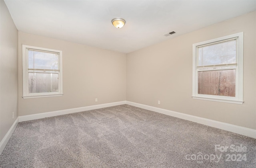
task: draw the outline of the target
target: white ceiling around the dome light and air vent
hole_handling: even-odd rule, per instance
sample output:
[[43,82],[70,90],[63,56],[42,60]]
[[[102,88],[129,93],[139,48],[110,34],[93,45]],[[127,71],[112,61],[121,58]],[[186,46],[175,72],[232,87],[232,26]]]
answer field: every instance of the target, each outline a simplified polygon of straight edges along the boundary
[[[19,31],[122,53],[256,10],[256,0],[4,1]],[[114,27],[116,17],[126,25]]]

